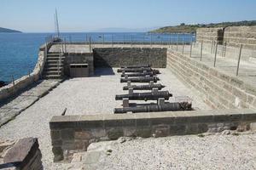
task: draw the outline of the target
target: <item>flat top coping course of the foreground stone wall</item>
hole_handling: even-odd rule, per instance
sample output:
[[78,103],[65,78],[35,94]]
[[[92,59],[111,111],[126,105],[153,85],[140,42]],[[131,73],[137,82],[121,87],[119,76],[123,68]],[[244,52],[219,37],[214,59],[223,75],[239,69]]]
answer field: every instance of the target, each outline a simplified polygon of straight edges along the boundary
[[[86,123],[86,127],[126,126],[139,125],[144,121],[152,123],[161,121],[173,121],[197,123],[197,122],[255,122],[256,110],[231,109],[231,110],[209,110],[209,111],[165,111],[145,112],[136,114],[102,114],[102,115],[78,115],[78,116],[53,116],[49,121],[51,129],[62,127],[79,127],[80,123]],[[164,123],[163,122],[163,123]],[[112,124],[113,123],[113,124]],[[63,125],[63,126],[61,126]]]

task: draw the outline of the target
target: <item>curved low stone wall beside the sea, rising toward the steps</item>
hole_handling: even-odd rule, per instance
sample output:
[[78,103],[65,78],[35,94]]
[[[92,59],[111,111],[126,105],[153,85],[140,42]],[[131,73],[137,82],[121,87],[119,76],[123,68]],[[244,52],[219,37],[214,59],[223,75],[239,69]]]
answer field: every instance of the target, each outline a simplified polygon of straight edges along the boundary
[[44,48],[45,45],[39,48],[38,63],[35,66],[32,73],[30,74],[30,76],[21,77],[15,80],[15,84],[13,84],[13,82],[10,82],[9,85],[0,88],[0,103],[4,101],[4,99],[8,99],[15,96],[15,94],[18,94],[20,92],[20,90],[38,81],[44,69]]

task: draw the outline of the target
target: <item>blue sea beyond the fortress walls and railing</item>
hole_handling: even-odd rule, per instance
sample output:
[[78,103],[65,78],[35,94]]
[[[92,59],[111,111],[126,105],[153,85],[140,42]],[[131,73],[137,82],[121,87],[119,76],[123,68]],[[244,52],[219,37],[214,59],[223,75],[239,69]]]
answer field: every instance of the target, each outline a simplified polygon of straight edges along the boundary
[[[0,81],[10,82],[32,71],[38,60],[38,48],[53,33],[0,33]],[[191,34],[62,33],[67,42],[190,42]]]

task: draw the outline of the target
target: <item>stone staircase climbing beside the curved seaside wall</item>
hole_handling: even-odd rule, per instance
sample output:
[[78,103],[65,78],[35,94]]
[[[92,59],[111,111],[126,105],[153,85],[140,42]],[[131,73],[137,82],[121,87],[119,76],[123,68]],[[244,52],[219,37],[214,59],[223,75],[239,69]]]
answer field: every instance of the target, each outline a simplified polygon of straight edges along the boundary
[[44,79],[62,79],[63,78],[63,61],[62,55],[60,59],[59,53],[47,54],[46,63],[44,65]]

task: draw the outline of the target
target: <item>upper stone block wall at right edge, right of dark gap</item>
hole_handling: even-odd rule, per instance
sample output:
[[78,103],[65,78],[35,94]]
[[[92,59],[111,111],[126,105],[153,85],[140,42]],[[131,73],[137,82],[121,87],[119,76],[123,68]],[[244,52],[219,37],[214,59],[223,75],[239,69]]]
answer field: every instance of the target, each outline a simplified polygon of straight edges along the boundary
[[227,46],[256,50],[256,26],[230,26],[224,29],[224,42]]

